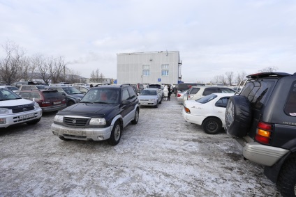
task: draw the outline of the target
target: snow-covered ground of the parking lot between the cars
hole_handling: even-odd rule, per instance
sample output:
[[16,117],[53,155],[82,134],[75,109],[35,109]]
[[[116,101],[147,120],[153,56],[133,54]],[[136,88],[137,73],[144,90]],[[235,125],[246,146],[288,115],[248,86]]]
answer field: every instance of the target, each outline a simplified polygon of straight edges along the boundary
[[0,196],[280,196],[225,132],[186,123],[175,95],[141,108],[116,146],[61,141],[54,113],[0,132]]

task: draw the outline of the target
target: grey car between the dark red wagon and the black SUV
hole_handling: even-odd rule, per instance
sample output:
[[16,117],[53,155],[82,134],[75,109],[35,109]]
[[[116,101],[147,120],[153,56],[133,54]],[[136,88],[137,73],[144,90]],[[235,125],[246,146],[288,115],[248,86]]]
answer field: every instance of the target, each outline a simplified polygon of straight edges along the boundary
[[49,90],[57,90],[62,95],[66,96],[67,106],[71,106],[77,102],[80,102],[84,94],[72,86],[50,86]]

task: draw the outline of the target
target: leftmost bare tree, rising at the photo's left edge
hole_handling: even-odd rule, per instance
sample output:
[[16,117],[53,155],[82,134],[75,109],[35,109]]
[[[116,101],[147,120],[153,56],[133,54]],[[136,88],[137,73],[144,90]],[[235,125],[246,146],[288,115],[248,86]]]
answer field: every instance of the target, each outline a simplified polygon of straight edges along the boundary
[[21,79],[24,52],[18,45],[7,41],[2,46],[6,57],[0,60],[0,77],[6,84],[13,84]]

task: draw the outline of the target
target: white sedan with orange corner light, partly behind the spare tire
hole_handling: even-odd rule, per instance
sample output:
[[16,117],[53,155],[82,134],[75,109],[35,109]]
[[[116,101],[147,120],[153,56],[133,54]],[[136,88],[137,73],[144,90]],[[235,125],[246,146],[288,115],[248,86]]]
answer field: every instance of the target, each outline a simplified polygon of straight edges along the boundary
[[186,100],[182,115],[188,123],[202,125],[207,134],[217,134],[225,125],[225,109],[233,93],[214,93]]

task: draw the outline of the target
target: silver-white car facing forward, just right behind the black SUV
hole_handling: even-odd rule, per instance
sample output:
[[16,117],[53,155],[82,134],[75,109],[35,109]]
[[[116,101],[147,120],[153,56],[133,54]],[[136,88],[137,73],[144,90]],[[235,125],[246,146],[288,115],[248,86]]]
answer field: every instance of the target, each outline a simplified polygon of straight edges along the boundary
[[140,95],[138,95],[139,106],[151,106],[158,107],[161,104],[161,93],[159,93],[158,88],[145,88],[142,90]]

